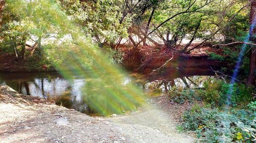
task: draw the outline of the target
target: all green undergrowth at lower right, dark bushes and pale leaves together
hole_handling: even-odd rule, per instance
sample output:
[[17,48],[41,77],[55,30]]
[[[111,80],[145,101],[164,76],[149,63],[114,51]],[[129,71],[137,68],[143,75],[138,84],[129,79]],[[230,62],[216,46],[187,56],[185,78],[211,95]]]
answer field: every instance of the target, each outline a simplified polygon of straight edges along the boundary
[[[205,105],[195,104],[185,111],[178,129],[195,132],[198,142],[256,142],[253,89],[241,83],[230,85],[217,79],[206,80],[203,87],[170,90],[170,99],[174,102],[182,104],[199,100]],[[227,107],[228,94],[231,104]]]

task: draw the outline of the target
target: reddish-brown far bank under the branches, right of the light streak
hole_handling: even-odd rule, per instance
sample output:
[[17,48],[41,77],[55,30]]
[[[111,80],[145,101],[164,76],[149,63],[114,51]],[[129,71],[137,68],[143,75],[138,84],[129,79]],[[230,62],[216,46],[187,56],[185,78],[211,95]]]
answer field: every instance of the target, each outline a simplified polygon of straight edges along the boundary
[[[122,65],[128,69],[151,72],[164,64],[164,68],[221,68],[227,67],[227,62],[209,60],[209,53],[223,54],[221,49],[201,46],[190,53],[181,53],[181,47],[176,49],[141,46],[138,48],[122,47],[124,52]],[[191,48],[191,47],[190,47]],[[168,62],[166,62],[168,61]]]

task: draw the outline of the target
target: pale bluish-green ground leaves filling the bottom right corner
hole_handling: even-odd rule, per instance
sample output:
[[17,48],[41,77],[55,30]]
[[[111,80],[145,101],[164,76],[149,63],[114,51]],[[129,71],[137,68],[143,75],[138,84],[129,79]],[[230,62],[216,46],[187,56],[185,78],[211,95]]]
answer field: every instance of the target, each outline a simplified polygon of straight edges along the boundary
[[254,142],[256,112],[199,108],[184,112],[180,128],[195,131],[199,142]]

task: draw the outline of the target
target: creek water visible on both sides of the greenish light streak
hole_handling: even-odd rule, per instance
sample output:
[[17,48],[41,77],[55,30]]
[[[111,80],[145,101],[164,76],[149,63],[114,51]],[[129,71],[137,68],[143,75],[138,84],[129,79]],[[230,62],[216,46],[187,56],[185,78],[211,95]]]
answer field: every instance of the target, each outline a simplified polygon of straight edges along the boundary
[[[130,73],[123,84],[134,82],[148,97],[161,96],[172,87],[201,88],[206,78],[214,75],[209,69],[167,69],[156,75]],[[67,80],[59,73],[0,73],[0,83],[24,95],[41,98],[58,97],[56,104],[93,114],[83,100],[81,88],[87,77],[73,76]]]

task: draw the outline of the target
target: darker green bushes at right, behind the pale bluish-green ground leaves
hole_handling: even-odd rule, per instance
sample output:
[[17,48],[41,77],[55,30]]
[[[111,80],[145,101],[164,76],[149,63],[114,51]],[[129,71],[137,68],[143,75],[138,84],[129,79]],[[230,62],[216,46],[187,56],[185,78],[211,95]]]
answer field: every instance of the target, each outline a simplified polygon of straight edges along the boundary
[[[232,106],[243,105],[252,101],[252,87],[246,87],[242,83],[229,84],[223,80],[208,78],[203,83],[202,89],[182,89],[172,88],[168,95],[170,99],[177,103],[184,103],[186,100],[193,102],[194,100],[202,100],[206,104],[209,103],[213,107],[221,107],[227,102]],[[230,101],[228,101],[230,96]]]

